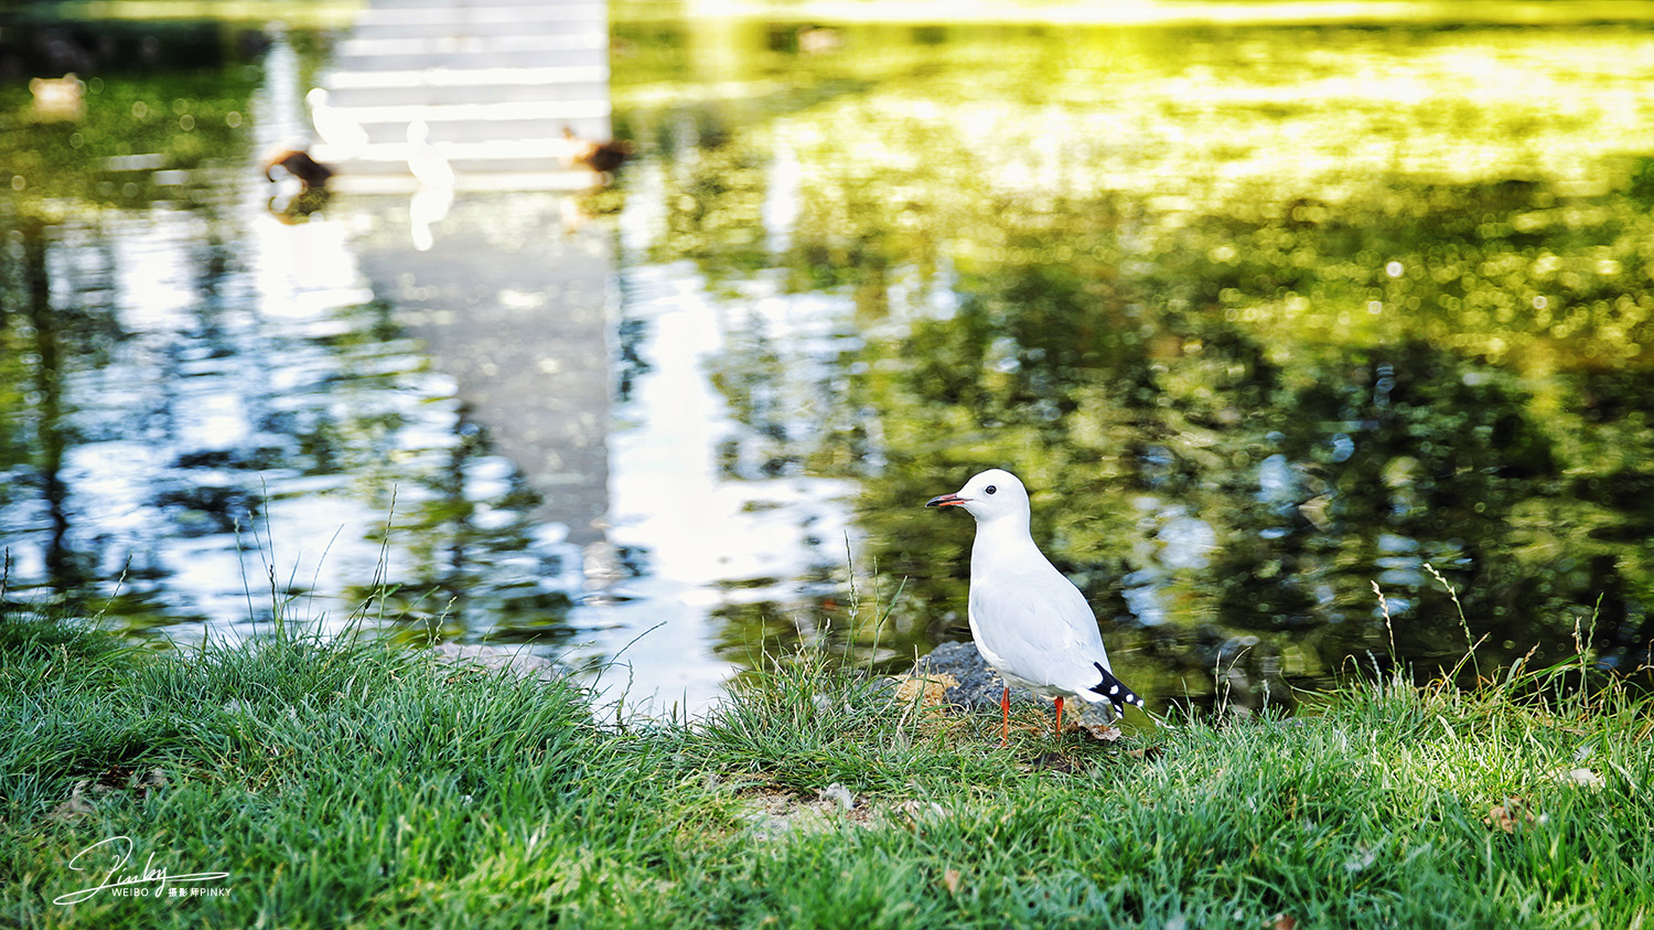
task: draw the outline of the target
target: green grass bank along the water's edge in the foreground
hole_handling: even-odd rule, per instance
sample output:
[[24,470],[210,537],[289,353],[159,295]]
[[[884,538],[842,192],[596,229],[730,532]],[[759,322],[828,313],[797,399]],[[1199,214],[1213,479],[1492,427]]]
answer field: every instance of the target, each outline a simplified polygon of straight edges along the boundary
[[[809,655],[617,730],[572,685],[377,642],[157,657],[10,617],[0,927],[1636,927],[1651,707],[1560,675],[1113,745],[1030,713],[1001,750]],[[230,894],[53,904],[117,836],[124,872]]]

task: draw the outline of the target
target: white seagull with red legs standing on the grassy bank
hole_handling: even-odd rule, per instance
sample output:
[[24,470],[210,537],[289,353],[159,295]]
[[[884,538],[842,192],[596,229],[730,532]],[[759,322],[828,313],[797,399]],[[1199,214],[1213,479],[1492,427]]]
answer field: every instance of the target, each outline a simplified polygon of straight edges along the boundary
[[1115,677],[1085,596],[1034,544],[1029,493],[1016,475],[991,468],[925,506],[963,506],[976,518],[971,637],[1006,680],[999,745],[1011,740],[1011,685],[1057,698],[1057,733],[1068,697],[1108,702],[1116,715],[1128,703],[1143,707],[1143,698]]

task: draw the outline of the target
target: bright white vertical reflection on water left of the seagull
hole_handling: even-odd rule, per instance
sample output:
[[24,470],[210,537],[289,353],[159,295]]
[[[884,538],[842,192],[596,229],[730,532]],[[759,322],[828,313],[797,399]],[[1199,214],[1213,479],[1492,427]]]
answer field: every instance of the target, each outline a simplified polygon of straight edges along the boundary
[[[718,695],[733,665],[713,657],[711,614],[733,602],[801,602],[805,574],[845,566],[850,526],[845,482],[807,477],[738,480],[721,475],[718,448],[741,442],[738,424],[706,376],[723,349],[719,309],[685,266],[622,271],[625,313],[648,321],[640,346],[652,371],[615,410],[610,434],[610,531],[617,546],[648,553],[648,571],[622,586],[629,602],[582,607],[617,624],[595,645],[612,652],[653,624],[625,654],[643,693],[700,708]],[[728,587],[724,581],[776,579]],[[756,644],[754,644],[756,645]]]

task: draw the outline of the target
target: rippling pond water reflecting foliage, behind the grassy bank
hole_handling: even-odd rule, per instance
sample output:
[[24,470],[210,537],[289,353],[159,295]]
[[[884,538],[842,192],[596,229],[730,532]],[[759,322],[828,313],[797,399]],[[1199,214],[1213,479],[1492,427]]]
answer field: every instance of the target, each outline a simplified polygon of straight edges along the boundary
[[1006,467],[1151,703],[1472,642],[1637,672],[1654,26],[1616,10],[617,15],[640,157],[423,242],[258,172],[347,30],[8,28],[5,597],[619,660],[696,710],[764,652],[966,639],[969,520],[921,505]]

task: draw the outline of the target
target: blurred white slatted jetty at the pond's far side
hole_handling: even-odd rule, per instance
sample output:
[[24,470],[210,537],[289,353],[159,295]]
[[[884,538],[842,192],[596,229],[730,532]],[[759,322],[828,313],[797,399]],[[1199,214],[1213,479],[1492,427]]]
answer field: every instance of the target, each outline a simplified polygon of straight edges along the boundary
[[370,0],[309,98],[319,142],[352,194],[418,187],[409,126],[458,190],[579,190],[564,127],[609,139],[609,8],[590,0]]

